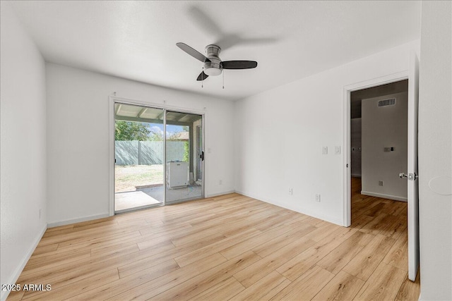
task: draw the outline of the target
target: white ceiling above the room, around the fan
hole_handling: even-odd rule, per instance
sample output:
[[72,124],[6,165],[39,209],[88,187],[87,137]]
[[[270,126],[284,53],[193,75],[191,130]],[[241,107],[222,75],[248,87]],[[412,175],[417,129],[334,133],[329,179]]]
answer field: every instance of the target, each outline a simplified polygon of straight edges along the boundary
[[[44,59],[98,73],[242,99],[420,38],[420,1],[13,1]],[[196,81],[202,63],[253,60]]]

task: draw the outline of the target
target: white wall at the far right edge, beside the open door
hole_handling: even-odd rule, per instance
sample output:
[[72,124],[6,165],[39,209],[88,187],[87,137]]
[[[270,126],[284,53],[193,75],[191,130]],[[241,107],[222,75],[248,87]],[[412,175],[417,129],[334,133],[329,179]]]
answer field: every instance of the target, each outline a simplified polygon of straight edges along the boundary
[[[452,3],[422,1],[419,96],[421,300],[452,300]],[[441,190],[429,188],[442,178]],[[447,178],[448,177],[448,178]]]

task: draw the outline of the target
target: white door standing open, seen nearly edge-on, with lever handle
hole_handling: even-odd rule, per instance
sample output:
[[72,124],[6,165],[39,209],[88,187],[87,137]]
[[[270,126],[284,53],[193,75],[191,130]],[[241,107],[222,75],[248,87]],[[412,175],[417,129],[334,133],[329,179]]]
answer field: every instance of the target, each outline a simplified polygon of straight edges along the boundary
[[419,60],[411,54],[408,78],[408,278],[415,281],[419,266],[419,181],[417,180],[417,106]]

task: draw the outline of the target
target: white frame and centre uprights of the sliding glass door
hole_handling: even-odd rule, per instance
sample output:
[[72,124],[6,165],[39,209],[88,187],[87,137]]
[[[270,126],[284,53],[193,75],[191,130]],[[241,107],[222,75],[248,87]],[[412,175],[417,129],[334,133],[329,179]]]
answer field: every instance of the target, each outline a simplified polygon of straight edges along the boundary
[[[167,141],[166,141],[166,121],[167,121],[167,111],[176,111],[178,113],[191,113],[201,116],[201,126],[202,126],[202,149],[205,149],[206,145],[206,112],[205,111],[196,111],[191,109],[182,108],[179,106],[169,106],[164,104],[156,104],[152,102],[143,102],[136,99],[129,99],[124,97],[117,97],[115,95],[108,97],[108,104],[109,104],[109,216],[114,216],[114,104],[131,104],[134,106],[145,106],[148,108],[153,109],[162,109],[163,110],[163,206],[166,204],[166,148],[167,148]],[[204,108],[205,109],[205,108]],[[205,189],[206,189],[206,160],[203,160],[202,164],[202,188],[201,188],[201,198],[205,196]],[[140,208],[138,208],[140,209]]]

